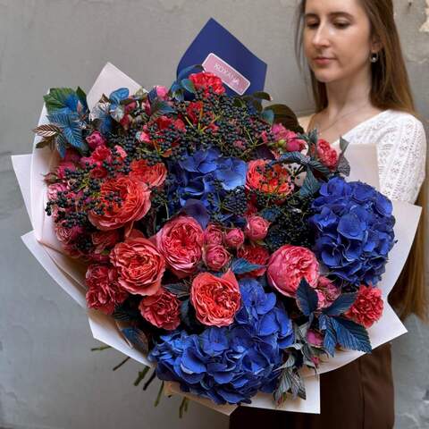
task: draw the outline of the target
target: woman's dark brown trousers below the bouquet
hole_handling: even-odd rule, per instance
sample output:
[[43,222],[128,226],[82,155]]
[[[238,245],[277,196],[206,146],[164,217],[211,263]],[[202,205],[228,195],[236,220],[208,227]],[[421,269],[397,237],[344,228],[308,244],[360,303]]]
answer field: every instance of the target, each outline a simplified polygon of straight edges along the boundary
[[391,343],[320,376],[321,414],[239,407],[230,429],[391,429],[394,396]]

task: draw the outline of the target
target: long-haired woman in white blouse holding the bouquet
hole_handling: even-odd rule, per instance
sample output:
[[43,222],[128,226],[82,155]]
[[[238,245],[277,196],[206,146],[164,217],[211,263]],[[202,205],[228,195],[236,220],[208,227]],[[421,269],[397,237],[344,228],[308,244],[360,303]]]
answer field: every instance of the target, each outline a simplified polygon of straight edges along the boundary
[[[375,143],[383,194],[424,207],[426,139],[416,118],[391,0],[302,0],[297,54],[305,56],[316,113],[307,129],[338,147],[340,136]],[[418,198],[417,198],[418,196]],[[426,316],[425,219],[390,295],[401,318]],[[321,375],[321,414],[237,408],[230,429],[392,428],[391,344]]]

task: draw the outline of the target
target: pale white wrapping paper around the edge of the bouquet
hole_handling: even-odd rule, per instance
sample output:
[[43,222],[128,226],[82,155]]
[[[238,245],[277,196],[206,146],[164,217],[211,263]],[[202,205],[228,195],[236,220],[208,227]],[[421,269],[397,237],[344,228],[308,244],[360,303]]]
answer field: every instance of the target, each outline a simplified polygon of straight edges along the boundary
[[[114,89],[125,87],[130,93],[140,87],[137,82],[119,71],[113,64],[107,63],[98,76],[94,86],[88,92],[88,105],[91,108],[97,103],[103,94],[110,94]],[[46,123],[46,108],[44,106],[38,124]],[[39,138],[34,139],[31,155],[13,156],[13,168],[20,183],[21,192],[34,231],[22,237],[29,251],[38,259],[38,262],[46,269],[55,282],[65,290],[80,307],[86,307],[85,300],[85,266],[79,261],[63,254],[60,242],[55,237],[53,220],[46,215],[45,206],[46,184],[43,176],[50,172],[58,163],[58,155],[51,152],[48,147],[36,149]],[[349,145],[347,158],[351,164],[349,180],[366,181],[366,183],[379,189],[377,156],[374,145]],[[408,257],[411,244],[416,233],[416,226],[421,213],[421,208],[404,202],[393,202],[393,214],[397,222],[395,234],[398,243],[391,250],[390,261],[386,265],[386,273],[379,287],[383,290],[384,312],[381,320],[369,330],[373,349],[379,345],[391,341],[407,332],[400,319],[395,315],[387,302],[387,296],[400,275],[402,266]],[[152,366],[139,350],[134,349],[127,341],[114,319],[95,310],[88,310],[88,321],[91,332],[99,341],[108,344],[114,349],[122,351],[127,356],[134,358],[144,365]],[[321,364],[318,373],[323,374],[332,371],[363,353],[357,351],[339,351],[336,356]],[[280,408],[273,402],[272,395],[257,394],[252,399],[250,407],[271,408],[284,411],[320,413],[320,384],[319,376],[314,371],[303,370],[305,376],[307,400],[287,400]],[[236,406],[216,406],[212,401],[198,398],[195,395],[185,394],[180,391],[176,383],[166,383],[167,393],[177,393],[195,400],[207,407],[214,408],[223,414],[230,415]]]

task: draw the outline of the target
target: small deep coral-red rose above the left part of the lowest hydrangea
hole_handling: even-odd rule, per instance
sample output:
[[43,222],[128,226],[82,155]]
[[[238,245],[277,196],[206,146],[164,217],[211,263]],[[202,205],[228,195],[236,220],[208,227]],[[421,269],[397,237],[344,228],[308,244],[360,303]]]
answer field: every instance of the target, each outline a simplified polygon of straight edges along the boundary
[[147,322],[157,328],[172,331],[181,324],[181,303],[174,294],[163,287],[155,295],[142,299],[139,310]]

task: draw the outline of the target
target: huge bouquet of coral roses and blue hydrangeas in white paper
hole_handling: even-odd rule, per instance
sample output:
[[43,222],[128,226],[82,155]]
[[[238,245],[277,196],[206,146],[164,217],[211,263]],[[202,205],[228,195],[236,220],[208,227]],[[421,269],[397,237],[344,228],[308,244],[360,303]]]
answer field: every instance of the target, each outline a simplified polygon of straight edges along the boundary
[[419,212],[346,181],[361,172],[353,145],[337,152],[264,101],[227,95],[201,66],[171,88],[111,64],[88,97],[51,88],[29,192],[14,159],[24,240],[96,338],[167,391],[318,412],[317,374],[405,332],[387,294]]

